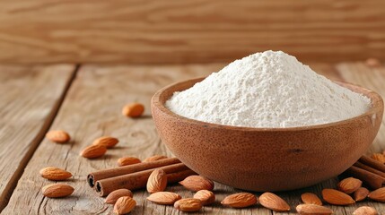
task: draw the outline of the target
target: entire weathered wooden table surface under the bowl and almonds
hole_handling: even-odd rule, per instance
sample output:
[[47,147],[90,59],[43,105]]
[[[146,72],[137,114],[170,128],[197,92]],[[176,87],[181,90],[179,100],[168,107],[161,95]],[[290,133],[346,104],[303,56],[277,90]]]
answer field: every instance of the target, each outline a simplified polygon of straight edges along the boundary
[[[0,210],[1,214],[112,214],[85,183],[87,174],[112,168],[122,156],[144,159],[153,154],[171,156],[156,133],[150,112],[150,99],[161,87],[180,80],[204,76],[224,64],[183,65],[2,65],[0,66]],[[385,67],[370,67],[363,62],[310,64],[330,78],[354,82],[385,97]],[[145,115],[139,119],[121,116],[121,108],[131,101],[144,103]],[[384,121],[382,121],[384,122]],[[385,125],[368,153],[385,149]],[[66,144],[48,142],[48,130],[63,129],[72,136]],[[79,151],[101,135],[118,137],[118,147],[101,159],[83,159]],[[310,140],[311,141],[311,140]],[[346,151],[349,153],[349,151]],[[47,166],[65,168],[74,177],[65,183],[74,193],[63,199],[45,198],[40,189],[52,182],[39,176]],[[278,193],[289,202],[292,211],[304,192],[317,193],[335,187],[337,178],[293,192]],[[183,197],[193,193],[180,185],[168,187]],[[216,183],[217,201],[199,214],[276,214],[255,206],[243,210],[223,208],[224,196],[239,192]],[[257,195],[260,193],[256,193]],[[146,202],[148,193],[136,191],[138,205],[132,214],[179,214],[171,206]],[[352,214],[358,206],[370,205],[385,213],[378,202],[357,202],[341,207],[330,206],[335,214]]]

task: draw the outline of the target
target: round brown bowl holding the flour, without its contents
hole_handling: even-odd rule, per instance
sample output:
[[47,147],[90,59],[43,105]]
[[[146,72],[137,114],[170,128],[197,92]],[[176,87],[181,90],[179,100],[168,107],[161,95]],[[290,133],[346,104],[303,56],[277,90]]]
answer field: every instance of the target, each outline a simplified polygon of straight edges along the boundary
[[354,164],[371,145],[383,114],[381,96],[337,82],[372,99],[363,115],[325,125],[249,128],[205,123],[164,106],[174,91],[203,78],[177,82],[152,99],[153,120],[171,152],[202,176],[251,191],[284,191],[315,185]]

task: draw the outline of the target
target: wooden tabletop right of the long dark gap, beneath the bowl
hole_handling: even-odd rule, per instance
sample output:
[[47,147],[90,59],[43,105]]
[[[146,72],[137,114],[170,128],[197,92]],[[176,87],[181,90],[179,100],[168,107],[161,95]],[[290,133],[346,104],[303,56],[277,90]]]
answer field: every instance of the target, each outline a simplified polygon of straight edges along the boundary
[[[212,73],[221,68],[223,64],[188,64],[188,65],[85,65],[78,72],[69,90],[63,106],[55,119],[52,129],[61,128],[67,130],[74,142],[69,144],[52,144],[47,140],[40,143],[33,158],[25,168],[24,174],[16,187],[13,196],[2,214],[27,213],[27,214],[112,214],[112,207],[104,204],[104,199],[93,193],[86,185],[85,179],[88,173],[101,169],[115,167],[119,157],[135,155],[144,159],[153,154],[166,154],[170,152],[159,139],[153,120],[150,116],[150,98],[155,90],[160,89],[171,82],[188,78],[194,78]],[[319,73],[324,73],[334,79],[346,79],[350,82],[361,83],[364,87],[372,88],[385,93],[385,87],[381,86],[381,80],[385,79],[385,68],[375,70],[376,81],[372,78],[361,77],[362,64],[311,64],[311,67]],[[372,71],[364,67],[365,70]],[[366,71],[368,72],[368,71]],[[366,80],[367,81],[363,81]],[[139,119],[127,119],[121,116],[120,110],[124,104],[130,101],[144,103],[145,115]],[[385,148],[385,143],[378,136],[372,151]],[[101,135],[118,137],[120,143],[117,149],[109,150],[101,159],[83,159],[78,153],[84,146]],[[46,166],[66,168],[74,174],[74,178],[66,184],[73,185],[75,192],[65,199],[48,199],[40,193],[43,185],[48,185],[46,179],[39,176],[40,168]],[[232,187],[216,183],[214,193],[216,202],[212,206],[204,207],[196,214],[296,214],[294,208],[301,202],[301,194],[305,192],[317,193],[323,188],[336,187],[337,178],[332,178],[319,185],[293,192],[277,193],[290,203],[292,211],[288,213],[276,213],[262,208],[260,205],[248,209],[236,210],[224,208],[219,202],[231,193],[241,192]],[[180,185],[168,187],[169,191],[175,191],[183,197],[192,197],[193,193],[186,191]],[[259,195],[260,193],[256,193]],[[131,214],[180,214],[171,206],[160,206],[145,201],[148,193],[145,191],[134,192],[134,198],[138,205]],[[382,203],[360,202],[354,206],[339,207],[328,206],[335,214],[352,214],[352,211],[361,205],[371,205],[380,213],[385,212]]]

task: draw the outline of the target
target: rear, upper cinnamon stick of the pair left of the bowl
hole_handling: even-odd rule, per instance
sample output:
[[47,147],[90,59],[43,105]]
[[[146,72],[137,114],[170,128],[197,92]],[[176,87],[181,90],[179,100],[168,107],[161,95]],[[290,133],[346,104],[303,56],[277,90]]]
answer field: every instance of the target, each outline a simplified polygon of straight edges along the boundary
[[88,185],[90,185],[91,187],[94,187],[96,185],[96,182],[101,179],[114,177],[114,176],[123,176],[130,173],[140,172],[146,169],[160,168],[160,167],[164,167],[164,166],[168,166],[176,163],[180,163],[180,160],[177,158],[170,158],[170,159],[159,159],[159,160],[150,161],[150,162],[143,162],[143,163],[133,164],[125,167],[103,169],[103,170],[92,172],[91,174],[89,174],[87,176],[87,182],[88,182]]

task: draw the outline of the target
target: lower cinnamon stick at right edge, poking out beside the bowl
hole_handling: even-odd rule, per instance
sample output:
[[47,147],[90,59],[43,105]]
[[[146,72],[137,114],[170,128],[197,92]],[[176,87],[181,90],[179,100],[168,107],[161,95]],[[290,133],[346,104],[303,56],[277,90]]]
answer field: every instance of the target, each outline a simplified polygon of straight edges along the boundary
[[385,183],[385,178],[378,176],[368,170],[357,167],[350,167],[346,170],[346,173],[350,176],[354,176],[363,181],[366,185],[372,187],[372,189],[378,189],[382,187],[382,184]]

